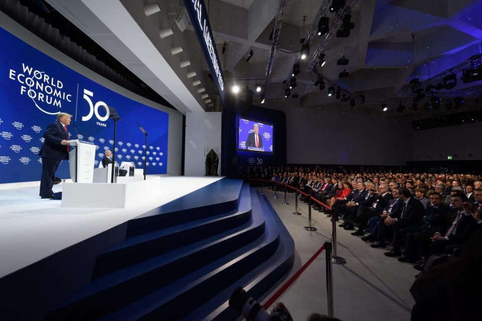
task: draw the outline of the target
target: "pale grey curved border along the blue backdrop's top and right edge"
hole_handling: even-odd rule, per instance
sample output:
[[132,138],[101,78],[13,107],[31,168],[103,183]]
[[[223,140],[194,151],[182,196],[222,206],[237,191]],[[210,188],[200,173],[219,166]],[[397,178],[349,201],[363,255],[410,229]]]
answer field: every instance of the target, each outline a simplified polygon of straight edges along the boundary
[[[92,79],[93,81],[101,84],[102,86],[115,91],[118,94],[126,96],[130,99],[136,100],[147,106],[155,109],[162,110],[169,114],[169,134],[168,134],[168,152],[167,152],[167,174],[168,175],[180,175],[181,174],[181,155],[182,155],[182,114],[172,108],[163,106],[154,101],[139,96],[110,80],[96,74],[92,70],[84,67],[80,63],[64,55],[17,22],[12,20],[9,16],[0,12],[0,27],[7,30],[17,38],[23,40],[30,46],[40,50],[44,54],[52,57],[65,66],[75,70],[76,72]],[[75,41],[75,40],[74,40]],[[8,49],[6,49],[8,50]]]

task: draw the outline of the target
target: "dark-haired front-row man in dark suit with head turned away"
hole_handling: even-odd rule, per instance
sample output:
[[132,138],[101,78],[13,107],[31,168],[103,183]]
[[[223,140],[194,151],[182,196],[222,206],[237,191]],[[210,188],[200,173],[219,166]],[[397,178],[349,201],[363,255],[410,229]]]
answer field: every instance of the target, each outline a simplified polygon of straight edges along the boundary
[[372,244],[371,247],[385,248],[386,238],[390,229],[393,229],[393,249],[390,252],[385,252],[386,256],[400,256],[401,251],[401,237],[400,230],[402,228],[416,226],[420,224],[420,220],[425,213],[425,207],[412,197],[408,189],[399,189],[400,201],[402,201],[400,211],[397,211],[394,216],[388,216],[383,224],[380,224],[380,231],[378,233],[378,242]]

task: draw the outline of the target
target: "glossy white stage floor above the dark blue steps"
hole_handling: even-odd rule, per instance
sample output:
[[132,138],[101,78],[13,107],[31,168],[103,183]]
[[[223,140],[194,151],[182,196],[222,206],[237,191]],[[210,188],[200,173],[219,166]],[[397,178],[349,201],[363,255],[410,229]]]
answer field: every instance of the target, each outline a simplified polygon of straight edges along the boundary
[[[129,208],[65,208],[40,199],[40,182],[0,186],[0,278],[222,177],[160,177],[160,193]],[[62,191],[62,183],[54,192]]]

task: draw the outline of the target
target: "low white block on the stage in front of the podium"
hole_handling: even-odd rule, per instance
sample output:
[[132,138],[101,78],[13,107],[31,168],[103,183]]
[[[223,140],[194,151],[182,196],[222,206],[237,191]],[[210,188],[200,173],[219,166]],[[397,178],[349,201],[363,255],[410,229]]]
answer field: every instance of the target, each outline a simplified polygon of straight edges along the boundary
[[62,207],[126,208],[158,197],[161,178],[126,183],[64,183]]

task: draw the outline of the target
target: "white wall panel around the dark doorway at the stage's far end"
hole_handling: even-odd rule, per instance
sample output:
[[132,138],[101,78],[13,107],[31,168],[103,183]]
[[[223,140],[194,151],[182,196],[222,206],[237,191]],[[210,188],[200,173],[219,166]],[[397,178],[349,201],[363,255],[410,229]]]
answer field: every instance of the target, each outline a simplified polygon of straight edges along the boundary
[[[186,142],[184,153],[184,175],[204,176],[205,154],[211,148],[219,150],[219,166],[221,172],[221,113],[220,112],[187,112]],[[207,150],[207,151],[206,151]]]

